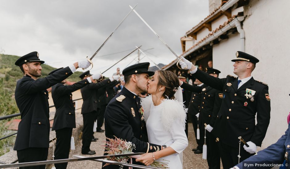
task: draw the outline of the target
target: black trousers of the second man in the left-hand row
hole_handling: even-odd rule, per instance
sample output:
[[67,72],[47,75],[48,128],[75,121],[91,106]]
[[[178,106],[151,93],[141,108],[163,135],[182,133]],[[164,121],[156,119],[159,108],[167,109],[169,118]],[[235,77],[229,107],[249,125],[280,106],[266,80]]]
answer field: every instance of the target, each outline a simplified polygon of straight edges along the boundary
[[[68,159],[70,150],[70,141],[73,128],[62,128],[56,130],[56,149],[54,151],[54,159]],[[56,169],[65,169],[68,163],[54,164]]]

